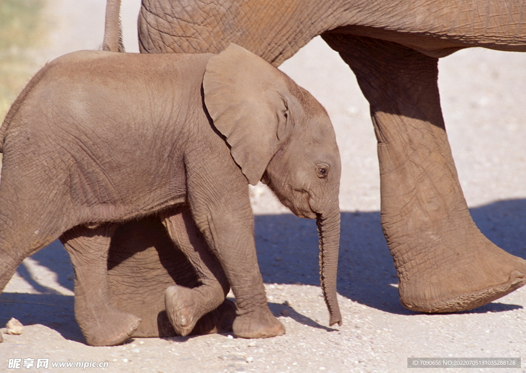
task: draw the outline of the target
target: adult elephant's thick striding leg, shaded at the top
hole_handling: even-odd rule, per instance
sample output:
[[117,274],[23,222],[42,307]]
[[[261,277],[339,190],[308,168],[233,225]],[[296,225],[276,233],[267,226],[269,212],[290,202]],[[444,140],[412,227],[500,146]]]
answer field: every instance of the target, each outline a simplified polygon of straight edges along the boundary
[[355,72],[378,139],[383,233],[404,307],[452,312],[526,283],[526,261],[477,229],[440,109],[438,60],[396,43],[323,35]]

